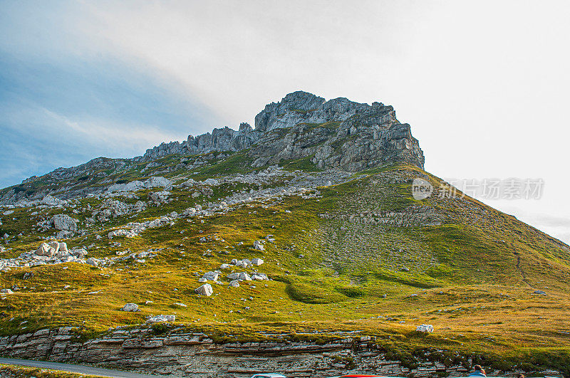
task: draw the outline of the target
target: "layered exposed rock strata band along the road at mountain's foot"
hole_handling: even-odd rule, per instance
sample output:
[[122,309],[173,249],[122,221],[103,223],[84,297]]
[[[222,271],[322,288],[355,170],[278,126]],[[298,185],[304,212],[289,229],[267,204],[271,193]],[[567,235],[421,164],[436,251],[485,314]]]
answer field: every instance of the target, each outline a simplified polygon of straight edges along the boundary
[[[207,335],[173,332],[154,335],[152,328],[115,329],[87,342],[71,327],[38,330],[35,333],[0,337],[0,355],[48,359],[58,362],[103,364],[175,377],[249,377],[279,371],[289,377],[338,376],[347,372],[406,377],[465,376],[465,366],[418,361],[409,369],[387,359],[367,336],[347,338],[323,345],[311,342],[234,342],[216,344]],[[549,376],[561,374],[544,372]]]

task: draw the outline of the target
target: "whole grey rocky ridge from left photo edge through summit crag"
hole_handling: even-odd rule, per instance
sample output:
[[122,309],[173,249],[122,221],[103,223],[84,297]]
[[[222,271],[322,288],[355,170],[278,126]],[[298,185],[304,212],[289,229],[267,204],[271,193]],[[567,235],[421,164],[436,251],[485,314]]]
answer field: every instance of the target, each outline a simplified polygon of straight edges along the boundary
[[199,174],[201,167],[213,164],[232,165],[234,172],[274,164],[358,172],[393,162],[420,168],[424,164],[410,125],[398,122],[393,107],[346,98],[325,101],[295,92],[266,105],[255,117],[255,129],[242,123],[238,131],[224,127],[189,135],[182,143],[162,143],[142,157],[99,157],[78,167],[58,168],[0,191],[0,204],[25,205],[47,195],[71,199],[100,194],[115,183],[158,174]]

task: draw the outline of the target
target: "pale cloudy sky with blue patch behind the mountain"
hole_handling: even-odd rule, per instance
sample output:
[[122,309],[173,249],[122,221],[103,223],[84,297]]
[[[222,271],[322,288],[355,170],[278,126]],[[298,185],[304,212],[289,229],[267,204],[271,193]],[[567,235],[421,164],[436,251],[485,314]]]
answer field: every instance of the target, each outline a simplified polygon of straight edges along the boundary
[[2,1],[0,186],[237,128],[306,90],[393,105],[439,177],[570,242],[567,1]]

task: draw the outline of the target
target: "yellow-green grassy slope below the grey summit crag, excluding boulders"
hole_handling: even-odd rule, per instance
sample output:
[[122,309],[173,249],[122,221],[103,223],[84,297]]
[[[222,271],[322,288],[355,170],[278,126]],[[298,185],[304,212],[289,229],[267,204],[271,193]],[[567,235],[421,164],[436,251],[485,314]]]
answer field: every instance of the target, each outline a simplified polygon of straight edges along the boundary
[[[321,199],[290,197],[271,206],[246,206],[204,219],[203,224],[182,220],[172,228],[120,240],[119,248],[106,238],[95,240],[95,233],[69,241],[72,246],[99,246],[90,249],[95,257],[114,256],[127,248],[163,249],[145,264],[100,270],[69,263],[1,273],[1,288],[26,287],[0,301],[1,332],[73,325],[94,335],[108,327],[144,322],[147,315],[175,313],[177,321],[219,340],[270,338],[264,332],[325,340],[341,337],[333,331],[361,330],[377,335],[386,350],[403,359],[417,348],[436,347],[485,352],[487,358],[496,353],[502,357],[494,358],[495,364],[522,355],[535,364],[570,361],[567,246],[473,199],[415,201],[407,180],[425,174],[415,167],[369,173],[323,188]],[[217,190],[215,196],[224,196],[232,188]],[[183,191],[172,196],[179,200],[135,219],[180,211],[195,201]],[[445,219],[439,226],[404,228],[339,216],[401,211],[410,205],[432,206]],[[318,214],[323,213],[334,216],[322,219]],[[6,222],[7,229],[25,229],[32,223],[26,211],[12,216],[17,220]],[[115,219],[112,224],[132,220]],[[254,251],[253,241],[269,233],[276,243],[266,243],[264,252]],[[198,243],[200,236],[212,240]],[[237,245],[240,241],[243,246]],[[37,243],[37,236],[22,236],[4,256],[17,256]],[[214,270],[232,258],[253,257],[264,258],[259,270],[274,280],[237,289],[214,285],[209,298],[193,293],[199,283],[192,273]],[[64,266],[68,269],[62,270]],[[410,270],[402,271],[403,266]],[[23,280],[24,271],[35,275]],[[64,285],[71,289],[63,290]],[[532,295],[535,289],[549,295]],[[153,303],[145,305],[145,300]],[[128,302],[138,303],[141,311],[120,312]],[[422,323],[434,325],[436,332],[418,335],[415,326]]]

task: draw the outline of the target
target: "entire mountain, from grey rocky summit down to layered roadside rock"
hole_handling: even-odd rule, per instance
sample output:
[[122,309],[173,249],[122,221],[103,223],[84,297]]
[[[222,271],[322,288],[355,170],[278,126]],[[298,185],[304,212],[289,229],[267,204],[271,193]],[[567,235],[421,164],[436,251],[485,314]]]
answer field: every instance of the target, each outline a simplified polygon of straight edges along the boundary
[[390,106],[295,92],[254,126],[2,189],[0,354],[570,377],[570,246],[425,172]]

